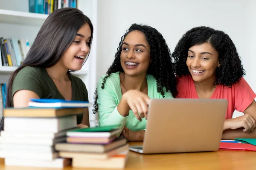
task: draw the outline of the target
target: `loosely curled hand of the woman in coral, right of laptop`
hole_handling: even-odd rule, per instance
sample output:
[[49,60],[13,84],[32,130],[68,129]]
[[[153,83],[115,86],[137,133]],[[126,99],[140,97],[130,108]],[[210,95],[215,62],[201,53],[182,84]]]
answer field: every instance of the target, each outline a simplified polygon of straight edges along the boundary
[[243,116],[239,116],[233,119],[227,119],[224,123],[224,130],[226,129],[238,129],[238,128],[244,128],[245,133],[250,133],[254,130],[256,127],[255,120],[248,114],[245,114]]

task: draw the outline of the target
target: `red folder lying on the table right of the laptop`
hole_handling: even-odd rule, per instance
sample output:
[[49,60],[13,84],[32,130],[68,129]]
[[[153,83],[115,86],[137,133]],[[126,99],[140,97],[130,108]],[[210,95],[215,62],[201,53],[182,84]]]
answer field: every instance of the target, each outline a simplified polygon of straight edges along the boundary
[[219,150],[256,151],[256,146],[244,143],[221,142]]

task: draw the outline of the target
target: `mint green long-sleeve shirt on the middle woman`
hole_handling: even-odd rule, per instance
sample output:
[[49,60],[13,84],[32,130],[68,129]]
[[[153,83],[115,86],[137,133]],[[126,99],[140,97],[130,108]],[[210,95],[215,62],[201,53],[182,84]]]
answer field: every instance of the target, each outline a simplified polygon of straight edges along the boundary
[[[146,127],[147,120],[142,118],[140,122],[135,116],[133,111],[129,111],[128,116],[124,117],[117,111],[117,105],[122,99],[121,85],[120,85],[120,72],[112,73],[110,77],[106,79],[104,89],[102,89],[102,82],[106,75],[100,77],[97,83],[98,94],[98,113],[100,126],[107,125],[122,125],[130,130],[143,130]],[[148,82],[148,97],[163,98],[163,96],[157,92],[157,81],[152,76],[147,74]],[[173,98],[171,92],[165,92],[165,98]]]

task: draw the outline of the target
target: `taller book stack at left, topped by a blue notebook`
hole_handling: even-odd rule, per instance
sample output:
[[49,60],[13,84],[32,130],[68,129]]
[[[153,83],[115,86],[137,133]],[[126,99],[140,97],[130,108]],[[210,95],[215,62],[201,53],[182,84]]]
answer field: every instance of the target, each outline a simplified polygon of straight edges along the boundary
[[31,105],[4,109],[0,157],[11,166],[61,168],[71,164],[71,159],[59,157],[54,145],[66,141],[68,130],[77,129],[76,115],[83,113],[83,108],[49,99],[36,99]]

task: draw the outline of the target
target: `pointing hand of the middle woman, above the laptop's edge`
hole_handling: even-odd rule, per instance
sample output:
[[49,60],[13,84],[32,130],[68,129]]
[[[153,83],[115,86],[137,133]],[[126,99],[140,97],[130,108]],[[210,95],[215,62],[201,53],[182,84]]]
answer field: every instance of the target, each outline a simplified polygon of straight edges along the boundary
[[117,110],[122,116],[127,116],[131,109],[138,120],[147,119],[148,105],[150,98],[138,90],[129,90],[122,95]]

